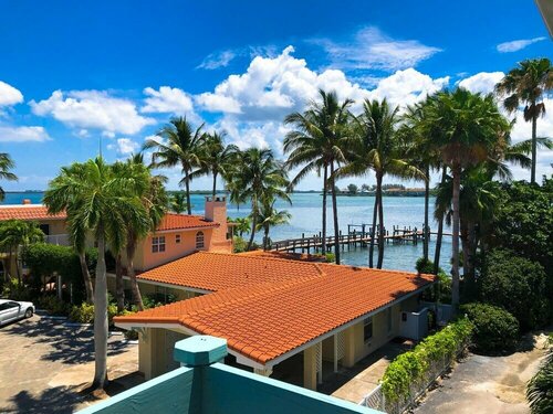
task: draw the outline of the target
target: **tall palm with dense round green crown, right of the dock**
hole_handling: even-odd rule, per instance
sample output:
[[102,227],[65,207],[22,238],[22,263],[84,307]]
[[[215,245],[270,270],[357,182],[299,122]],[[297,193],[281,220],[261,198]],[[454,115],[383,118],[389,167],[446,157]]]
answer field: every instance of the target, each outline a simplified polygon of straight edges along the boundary
[[435,142],[442,162],[452,173],[452,298],[459,306],[459,201],[461,173],[501,150],[498,145],[511,125],[500,114],[492,95],[482,96],[465,88],[444,91],[424,105],[420,134]]

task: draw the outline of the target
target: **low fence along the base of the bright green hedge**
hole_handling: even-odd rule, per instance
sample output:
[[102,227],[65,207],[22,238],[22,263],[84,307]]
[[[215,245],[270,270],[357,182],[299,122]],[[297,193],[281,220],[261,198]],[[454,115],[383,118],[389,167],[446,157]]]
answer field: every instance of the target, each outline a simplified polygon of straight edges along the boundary
[[359,405],[373,410],[379,410],[388,414],[404,413],[409,407],[413,407],[419,396],[421,396],[438,378],[447,372],[451,362],[457,357],[462,354],[468,346],[468,342],[462,343],[452,354],[446,355],[444,359],[438,361],[431,361],[426,374],[419,381],[410,384],[407,396],[400,397],[397,401],[386,400],[383,386],[379,384],[376,389],[365,395],[365,397],[359,402]]

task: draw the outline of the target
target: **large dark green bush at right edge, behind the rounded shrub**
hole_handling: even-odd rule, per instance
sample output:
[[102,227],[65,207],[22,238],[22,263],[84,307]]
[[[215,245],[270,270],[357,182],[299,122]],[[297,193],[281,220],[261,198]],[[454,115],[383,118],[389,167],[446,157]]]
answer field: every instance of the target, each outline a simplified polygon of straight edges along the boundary
[[545,282],[545,270],[539,263],[511,251],[494,250],[487,255],[479,277],[480,297],[511,312],[525,331],[547,322]]

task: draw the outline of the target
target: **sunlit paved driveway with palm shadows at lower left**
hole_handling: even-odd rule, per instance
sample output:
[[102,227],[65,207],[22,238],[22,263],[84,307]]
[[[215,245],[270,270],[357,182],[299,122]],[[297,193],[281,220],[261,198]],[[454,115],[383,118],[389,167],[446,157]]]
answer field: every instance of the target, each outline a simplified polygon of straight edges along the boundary
[[[109,338],[108,378],[118,380],[108,393],[140,381],[137,348]],[[92,329],[33,316],[0,328],[0,413],[72,413],[91,403],[80,392],[94,375]]]

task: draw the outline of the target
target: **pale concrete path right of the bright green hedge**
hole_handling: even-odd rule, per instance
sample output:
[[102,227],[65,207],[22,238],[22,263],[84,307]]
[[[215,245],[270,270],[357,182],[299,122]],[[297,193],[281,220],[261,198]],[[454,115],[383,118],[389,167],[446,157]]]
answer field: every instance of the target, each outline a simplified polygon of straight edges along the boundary
[[525,349],[507,357],[469,354],[414,411],[420,414],[530,413],[528,381],[540,367],[545,337],[528,338]]

